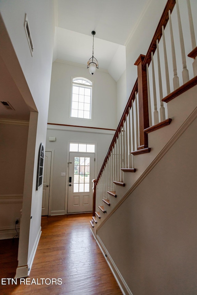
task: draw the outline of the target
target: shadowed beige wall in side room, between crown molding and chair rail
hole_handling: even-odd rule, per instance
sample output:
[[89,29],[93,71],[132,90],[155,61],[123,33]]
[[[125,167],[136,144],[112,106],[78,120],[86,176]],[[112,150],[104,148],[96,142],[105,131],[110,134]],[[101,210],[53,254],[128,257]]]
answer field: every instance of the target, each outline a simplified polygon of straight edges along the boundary
[[23,194],[28,128],[0,124],[0,195]]

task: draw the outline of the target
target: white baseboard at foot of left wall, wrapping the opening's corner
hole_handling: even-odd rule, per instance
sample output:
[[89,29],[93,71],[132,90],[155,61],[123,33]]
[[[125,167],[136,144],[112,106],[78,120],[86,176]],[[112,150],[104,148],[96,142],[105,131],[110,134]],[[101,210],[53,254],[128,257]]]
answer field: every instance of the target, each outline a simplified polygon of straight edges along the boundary
[[37,250],[37,247],[38,247],[38,242],[40,240],[40,236],[42,234],[42,231],[41,231],[41,226],[38,230],[38,234],[37,234],[37,237],[36,237],[36,240],[34,242],[34,246],[33,246],[33,249],[31,251],[31,255],[30,255],[30,259],[28,261],[28,265],[22,265],[22,266],[18,266],[17,269],[16,269],[16,275],[15,275],[15,279],[17,278],[21,278],[21,277],[29,277],[30,275],[30,271],[31,271],[31,267],[32,267],[32,264],[33,264],[33,261],[34,261],[34,256],[36,254],[36,250]]

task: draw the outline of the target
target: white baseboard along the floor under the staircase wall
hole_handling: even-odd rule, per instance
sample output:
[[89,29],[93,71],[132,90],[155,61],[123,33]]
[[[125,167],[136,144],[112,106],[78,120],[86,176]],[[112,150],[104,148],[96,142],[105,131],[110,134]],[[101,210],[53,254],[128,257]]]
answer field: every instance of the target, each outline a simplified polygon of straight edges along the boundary
[[96,236],[96,242],[101,249],[101,252],[103,253],[103,256],[105,257],[107,264],[109,265],[123,295],[133,295],[98,235]]

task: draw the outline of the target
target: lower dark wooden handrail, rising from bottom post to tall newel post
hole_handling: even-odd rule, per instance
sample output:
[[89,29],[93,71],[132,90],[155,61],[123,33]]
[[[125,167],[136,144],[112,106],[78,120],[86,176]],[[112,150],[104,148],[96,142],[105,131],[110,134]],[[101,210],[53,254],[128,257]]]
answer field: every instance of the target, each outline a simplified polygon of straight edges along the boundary
[[114,134],[114,137],[113,137],[113,139],[111,141],[110,147],[109,147],[109,149],[107,151],[106,157],[105,157],[105,159],[103,161],[103,165],[102,165],[102,167],[101,167],[101,169],[100,169],[100,171],[98,173],[98,177],[97,177],[96,182],[94,183],[94,185],[97,185],[97,183],[98,183],[98,180],[99,180],[99,178],[101,176],[103,168],[105,167],[105,165],[107,163],[107,159],[108,159],[108,157],[109,157],[109,155],[111,153],[112,147],[114,146],[114,143],[116,141],[116,137],[118,137],[118,133],[120,132],[121,127],[123,127],[123,121],[125,121],[126,115],[128,115],[128,113],[129,113],[129,108],[131,108],[132,100],[133,101],[135,100],[135,92],[138,92],[138,79],[135,81],[133,90],[131,91],[131,95],[130,95],[129,100],[127,102],[127,105],[126,105],[126,107],[124,109],[123,115],[122,115],[122,117],[120,119],[120,122],[118,124],[118,127],[117,127],[116,132]]

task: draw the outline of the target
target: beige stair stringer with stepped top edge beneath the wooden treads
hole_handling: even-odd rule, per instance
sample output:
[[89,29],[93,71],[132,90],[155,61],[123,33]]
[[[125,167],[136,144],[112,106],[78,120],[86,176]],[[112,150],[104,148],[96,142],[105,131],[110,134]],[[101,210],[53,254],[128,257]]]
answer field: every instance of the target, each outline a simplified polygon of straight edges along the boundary
[[111,206],[105,206],[107,213],[101,213],[101,218],[97,224],[94,224],[94,228],[91,229],[95,239],[97,230],[121,206],[196,118],[196,93],[197,85],[168,102],[168,117],[172,119],[171,124],[148,134],[151,152],[134,156],[135,173],[132,173],[132,175],[127,172],[123,173],[123,182],[126,183],[125,187],[116,185],[117,198],[110,197]]

